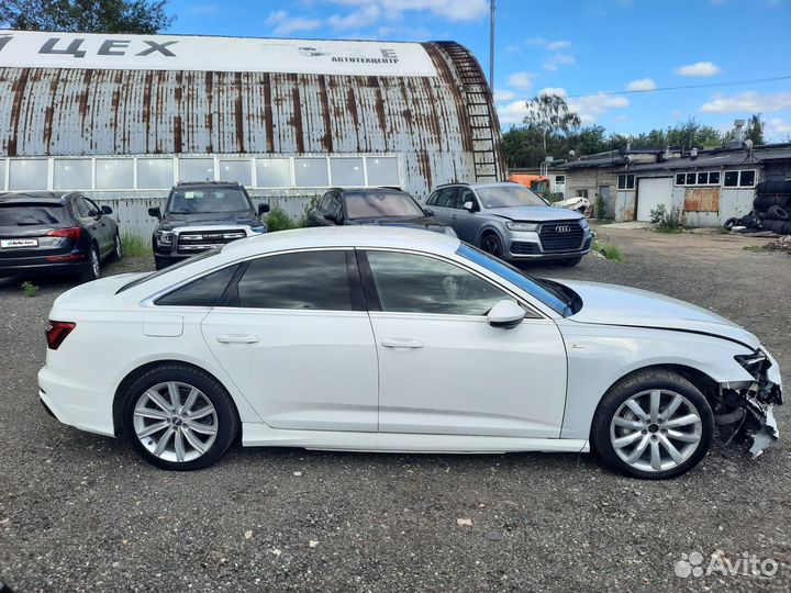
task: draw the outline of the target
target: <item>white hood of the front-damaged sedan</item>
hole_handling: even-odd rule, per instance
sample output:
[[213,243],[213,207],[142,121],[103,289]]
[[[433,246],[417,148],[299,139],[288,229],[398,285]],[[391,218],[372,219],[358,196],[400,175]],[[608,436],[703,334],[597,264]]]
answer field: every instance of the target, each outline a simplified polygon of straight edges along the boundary
[[734,322],[678,299],[599,282],[555,281],[582,299],[582,309],[568,317],[573,322],[693,332],[735,340],[754,349],[760,346],[756,336]]

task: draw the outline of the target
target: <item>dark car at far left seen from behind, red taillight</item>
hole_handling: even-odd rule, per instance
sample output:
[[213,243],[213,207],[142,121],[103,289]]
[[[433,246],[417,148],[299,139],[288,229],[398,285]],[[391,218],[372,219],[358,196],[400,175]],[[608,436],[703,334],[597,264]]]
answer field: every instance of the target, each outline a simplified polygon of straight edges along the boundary
[[109,214],[75,192],[0,193],[0,276],[99,278],[104,258],[121,257]]

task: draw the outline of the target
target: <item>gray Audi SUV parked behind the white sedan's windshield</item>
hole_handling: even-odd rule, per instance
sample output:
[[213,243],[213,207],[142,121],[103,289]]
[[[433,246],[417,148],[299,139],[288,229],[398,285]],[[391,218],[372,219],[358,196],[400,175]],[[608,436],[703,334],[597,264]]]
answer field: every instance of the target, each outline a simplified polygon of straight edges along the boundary
[[426,205],[461,240],[501,259],[576,266],[593,239],[582,214],[554,208],[519,183],[448,183]]

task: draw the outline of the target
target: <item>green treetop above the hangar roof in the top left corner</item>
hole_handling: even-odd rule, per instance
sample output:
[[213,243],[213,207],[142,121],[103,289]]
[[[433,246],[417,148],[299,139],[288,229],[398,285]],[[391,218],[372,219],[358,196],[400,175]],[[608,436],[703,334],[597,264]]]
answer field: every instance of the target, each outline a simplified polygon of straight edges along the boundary
[[25,31],[153,34],[176,20],[167,0],[1,0],[0,26]]

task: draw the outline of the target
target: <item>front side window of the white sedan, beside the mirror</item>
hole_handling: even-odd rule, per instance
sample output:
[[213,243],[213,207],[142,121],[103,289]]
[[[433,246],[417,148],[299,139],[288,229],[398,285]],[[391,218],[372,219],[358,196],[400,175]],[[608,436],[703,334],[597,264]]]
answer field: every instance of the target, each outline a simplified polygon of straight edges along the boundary
[[368,251],[382,311],[486,315],[509,294],[447,261],[393,251]]

